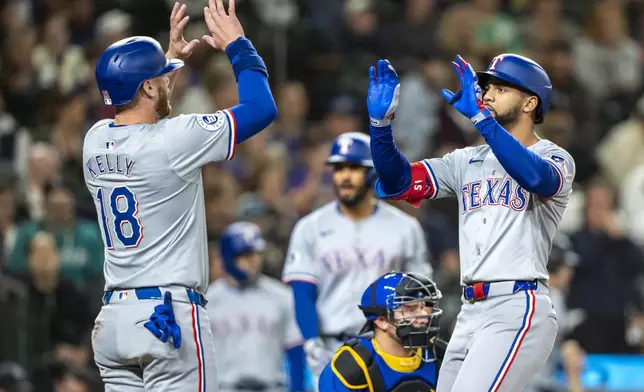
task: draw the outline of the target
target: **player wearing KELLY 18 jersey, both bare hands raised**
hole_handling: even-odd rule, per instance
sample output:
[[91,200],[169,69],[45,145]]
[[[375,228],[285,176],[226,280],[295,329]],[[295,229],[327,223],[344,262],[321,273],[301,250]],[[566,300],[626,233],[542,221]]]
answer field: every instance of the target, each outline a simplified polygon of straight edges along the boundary
[[93,331],[106,391],[214,391],[210,323],[203,309],[208,252],[201,167],[231,159],[235,145],[276,117],[266,66],[221,0],[204,9],[209,45],[225,50],[240,104],[212,114],[171,111],[186,42],[186,6],[175,4],[170,45],[130,37],[109,46],[96,80],[116,117],[96,123],[83,145],[85,182],[105,241],[105,294]]

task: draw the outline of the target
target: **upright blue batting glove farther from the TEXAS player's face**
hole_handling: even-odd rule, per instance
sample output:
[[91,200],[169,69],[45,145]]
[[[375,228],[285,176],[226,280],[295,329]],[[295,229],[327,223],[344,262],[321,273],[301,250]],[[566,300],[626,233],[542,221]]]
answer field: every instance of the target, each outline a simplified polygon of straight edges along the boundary
[[369,92],[367,109],[374,127],[384,127],[391,123],[400,99],[398,74],[388,60],[378,60],[376,66],[369,68]]

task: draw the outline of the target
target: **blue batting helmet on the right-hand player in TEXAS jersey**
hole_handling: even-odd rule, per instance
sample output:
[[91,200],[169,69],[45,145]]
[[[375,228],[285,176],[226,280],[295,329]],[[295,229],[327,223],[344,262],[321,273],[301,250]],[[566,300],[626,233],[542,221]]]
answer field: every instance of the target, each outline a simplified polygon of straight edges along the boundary
[[535,123],[543,122],[543,117],[550,107],[552,83],[542,66],[527,57],[506,53],[492,59],[487,71],[476,74],[481,87],[487,85],[490,76],[493,76],[539,97]]

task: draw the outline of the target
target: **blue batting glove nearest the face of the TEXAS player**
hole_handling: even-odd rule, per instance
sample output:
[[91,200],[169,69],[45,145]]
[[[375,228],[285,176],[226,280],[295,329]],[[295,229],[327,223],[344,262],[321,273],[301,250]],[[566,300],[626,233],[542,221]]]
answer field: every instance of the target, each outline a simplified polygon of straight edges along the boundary
[[458,55],[456,61],[452,61],[452,67],[461,82],[461,89],[456,93],[443,89],[441,92],[443,98],[474,124],[491,117],[492,112],[483,106],[483,93],[472,66]]

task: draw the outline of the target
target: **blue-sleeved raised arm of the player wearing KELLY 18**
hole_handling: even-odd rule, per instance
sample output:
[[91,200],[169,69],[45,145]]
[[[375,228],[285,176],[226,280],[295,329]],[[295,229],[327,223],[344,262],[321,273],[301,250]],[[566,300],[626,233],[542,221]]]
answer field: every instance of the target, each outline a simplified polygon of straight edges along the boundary
[[226,48],[237,79],[239,105],[230,110],[236,126],[236,142],[259,133],[277,118],[277,106],[268,84],[268,71],[252,43],[239,38]]

